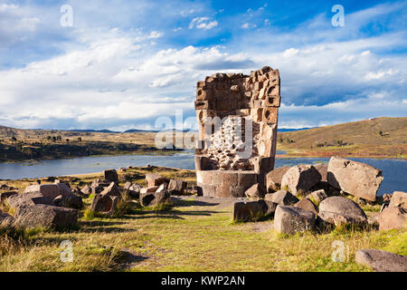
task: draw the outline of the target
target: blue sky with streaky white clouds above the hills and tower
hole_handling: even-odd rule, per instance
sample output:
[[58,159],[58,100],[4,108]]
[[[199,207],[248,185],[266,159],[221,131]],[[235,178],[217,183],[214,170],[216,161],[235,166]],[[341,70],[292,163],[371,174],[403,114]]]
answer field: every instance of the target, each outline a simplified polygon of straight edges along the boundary
[[266,65],[279,128],[406,117],[406,36],[407,1],[0,0],[0,125],[157,129]]

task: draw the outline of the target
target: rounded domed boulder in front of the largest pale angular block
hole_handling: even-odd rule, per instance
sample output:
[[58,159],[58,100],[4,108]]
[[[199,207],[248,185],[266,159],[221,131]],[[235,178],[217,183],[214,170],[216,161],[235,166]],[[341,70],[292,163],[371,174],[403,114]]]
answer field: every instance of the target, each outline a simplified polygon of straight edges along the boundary
[[349,198],[331,197],[319,205],[319,215],[330,224],[365,224],[367,217],[364,210]]

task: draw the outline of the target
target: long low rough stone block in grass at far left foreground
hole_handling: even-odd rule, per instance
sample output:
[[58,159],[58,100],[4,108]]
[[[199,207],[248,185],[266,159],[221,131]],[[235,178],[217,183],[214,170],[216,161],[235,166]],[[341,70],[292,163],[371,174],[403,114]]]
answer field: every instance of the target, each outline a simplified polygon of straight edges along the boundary
[[78,211],[47,205],[22,206],[15,212],[15,222],[24,227],[73,227]]

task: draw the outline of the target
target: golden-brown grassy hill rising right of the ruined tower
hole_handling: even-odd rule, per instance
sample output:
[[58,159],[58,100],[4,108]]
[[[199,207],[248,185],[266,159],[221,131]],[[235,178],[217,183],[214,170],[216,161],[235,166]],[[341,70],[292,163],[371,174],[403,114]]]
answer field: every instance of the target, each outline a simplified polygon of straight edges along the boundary
[[278,133],[287,156],[407,156],[407,118],[374,118],[304,131]]

